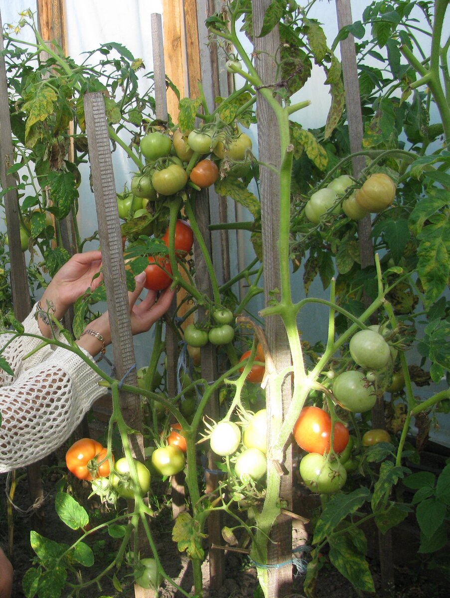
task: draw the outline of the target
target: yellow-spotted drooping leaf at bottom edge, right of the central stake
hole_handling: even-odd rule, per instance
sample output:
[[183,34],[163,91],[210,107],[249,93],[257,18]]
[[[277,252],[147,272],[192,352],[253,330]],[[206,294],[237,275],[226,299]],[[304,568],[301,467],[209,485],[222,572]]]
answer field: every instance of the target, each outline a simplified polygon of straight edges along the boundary
[[355,548],[351,536],[347,534],[331,536],[329,544],[330,562],[338,569],[339,573],[348,579],[357,590],[375,592],[369,564],[364,555]]

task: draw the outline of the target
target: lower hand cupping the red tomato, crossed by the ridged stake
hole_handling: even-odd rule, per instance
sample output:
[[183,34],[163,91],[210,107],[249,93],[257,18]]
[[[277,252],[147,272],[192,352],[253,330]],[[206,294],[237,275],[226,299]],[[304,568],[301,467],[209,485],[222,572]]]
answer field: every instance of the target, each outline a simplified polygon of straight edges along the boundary
[[[167,312],[175,295],[175,291],[171,291],[170,288],[163,291],[159,298],[157,298],[156,291],[147,291],[147,295],[138,303],[139,295],[141,295],[142,289],[144,289],[145,280],[146,276],[144,272],[138,274],[135,277],[135,290],[128,293],[131,331],[133,335],[150,330],[153,324]],[[101,334],[105,345],[111,343],[111,327],[108,312],[103,313],[99,318],[90,322],[87,328]],[[80,337],[77,344],[89,351],[91,355],[97,355],[102,349],[101,341],[90,334],[84,334],[83,337]]]

